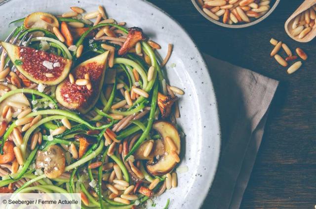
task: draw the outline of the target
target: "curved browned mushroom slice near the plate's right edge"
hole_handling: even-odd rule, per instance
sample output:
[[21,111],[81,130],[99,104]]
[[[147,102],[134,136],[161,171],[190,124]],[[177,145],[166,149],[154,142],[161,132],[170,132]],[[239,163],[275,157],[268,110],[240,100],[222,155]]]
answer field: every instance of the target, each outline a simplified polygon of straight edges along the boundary
[[[148,161],[146,168],[152,175],[161,176],[170,172],[177,164],[174,157],[170,154],[172,149],[166,141],[166,137],[170,137],[174,143],[175,151],[178,155],[180,153],[180,137],[177,129],[169,122],[157,121],[153,124],[155,129],[162,138],[164,154],[160,155],[158,160]],[[156,151],[156,150],[155,150]]]

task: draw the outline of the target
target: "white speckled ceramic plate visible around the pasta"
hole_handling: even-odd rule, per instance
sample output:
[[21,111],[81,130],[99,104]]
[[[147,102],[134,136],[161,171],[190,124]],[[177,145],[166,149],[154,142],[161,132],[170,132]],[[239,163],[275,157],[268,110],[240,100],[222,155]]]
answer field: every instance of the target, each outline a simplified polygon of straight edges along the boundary
[[[155,200],[155,208],[163,208],[170,198],[170,209],[198,209],[215,175],[220,128],[215,94],[205,63],[190,36],[178,23],[142,0],[7,0],[0,5],[0,38],[3,40],[9,33],[9,22],[31,12],[62,14],[74,5],[95,11],[99,4],[105,6],[109,17],[127,22],[127,27],[142,28],[162,46],[159,50],[161,57],[166,55],[167,44],[174,44],[166,71],[171,85],[186,92],[180,98],[181,119],[178,123],[186,133],[186,138],[182,139],[180,166],[188,166],[189,170],[178,174],[178,187]],[[175,66],[171,67],[171,64]]]

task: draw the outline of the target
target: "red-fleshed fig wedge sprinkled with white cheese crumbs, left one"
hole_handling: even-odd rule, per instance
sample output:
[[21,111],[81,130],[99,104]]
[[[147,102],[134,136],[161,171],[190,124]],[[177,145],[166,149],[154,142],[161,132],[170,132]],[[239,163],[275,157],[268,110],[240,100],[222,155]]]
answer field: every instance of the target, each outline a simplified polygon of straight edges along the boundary
[[27,79],[47,86],[61,83],[68,75],[72,60],[30,47],[1,42],[16,68]]

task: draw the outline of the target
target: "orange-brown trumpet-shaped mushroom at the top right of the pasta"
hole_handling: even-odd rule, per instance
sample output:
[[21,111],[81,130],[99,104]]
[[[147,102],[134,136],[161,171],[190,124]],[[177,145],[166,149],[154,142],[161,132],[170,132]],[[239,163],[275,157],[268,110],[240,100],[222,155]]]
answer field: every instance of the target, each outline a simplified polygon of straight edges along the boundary
[[118,55],[125,55],[138,41],[146,40],[143,30],[137,27],[129,28],[125,42],[118,50]]

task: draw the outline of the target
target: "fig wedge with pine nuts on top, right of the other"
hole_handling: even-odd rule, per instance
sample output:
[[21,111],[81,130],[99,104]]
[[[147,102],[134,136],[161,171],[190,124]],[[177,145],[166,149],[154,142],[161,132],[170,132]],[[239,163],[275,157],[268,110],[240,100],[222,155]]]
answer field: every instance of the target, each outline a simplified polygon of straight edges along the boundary
[[104,82],[109,51],[86,60],[72,70],[75,81],[89,74],[91,89],[70,83],[69,78],[56,88],[56,99],[64,107],[87,113],[97,102]]

